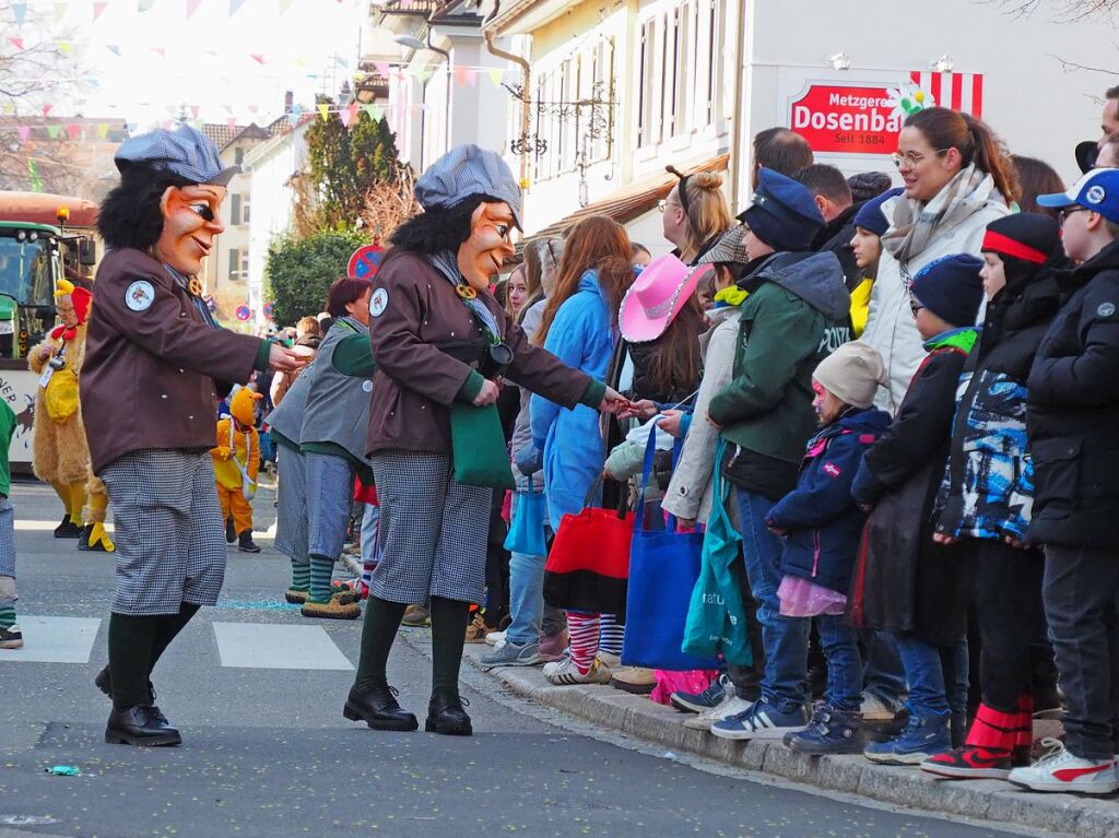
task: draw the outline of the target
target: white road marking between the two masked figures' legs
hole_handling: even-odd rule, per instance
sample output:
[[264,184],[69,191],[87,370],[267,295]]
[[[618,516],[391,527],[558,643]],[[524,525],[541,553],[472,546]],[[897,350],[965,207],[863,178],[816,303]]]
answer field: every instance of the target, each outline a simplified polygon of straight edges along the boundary
[[224,667],[354,669],[321,625],[218,622],[213,625]]

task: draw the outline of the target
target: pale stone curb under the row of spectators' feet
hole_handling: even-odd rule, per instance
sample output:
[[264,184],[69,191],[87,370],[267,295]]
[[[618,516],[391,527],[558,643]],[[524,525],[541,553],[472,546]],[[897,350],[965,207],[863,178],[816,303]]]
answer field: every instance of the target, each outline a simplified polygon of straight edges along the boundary
[[[466,659],[481,668],[491,651],[468,644]],[[1076,794],[1040,794],[998,780],[939,780],[916,768],[875,765],[863,756],[807,756],[777,742],[732,742],[684,726],[685,714],[609,686],[553,687],[538,667],[505,667],[488,672],[516,695],[614,728],[671,751],[687,752],[749,771],[882,803],[961,815],[976,820],[1021,825],[1031,830],[1100,838],[1119,835],[1119,800]]]

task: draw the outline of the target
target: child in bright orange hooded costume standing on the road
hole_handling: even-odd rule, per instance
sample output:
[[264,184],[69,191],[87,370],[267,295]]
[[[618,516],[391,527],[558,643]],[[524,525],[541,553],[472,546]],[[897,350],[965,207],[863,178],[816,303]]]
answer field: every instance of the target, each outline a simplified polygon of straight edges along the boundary
[[253,543],[253,507],[261,468],[261,441],[255,427],[256,402],[263,398],[241,387],[229,398],[229,416],[218,420],[217,446],[210,449],[217,497],[225,520],[225,540],[237,542],[242,553],[260,553]]

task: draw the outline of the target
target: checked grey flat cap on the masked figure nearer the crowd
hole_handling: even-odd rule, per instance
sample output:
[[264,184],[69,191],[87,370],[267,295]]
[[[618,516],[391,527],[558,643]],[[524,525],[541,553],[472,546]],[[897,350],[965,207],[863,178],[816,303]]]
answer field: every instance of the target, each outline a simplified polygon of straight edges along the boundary
[[432,163],[416,181],[416,200],[424,209],[453,207],[471,195],[504,200],[520,226],[520,185],[496,151],[457,145]]

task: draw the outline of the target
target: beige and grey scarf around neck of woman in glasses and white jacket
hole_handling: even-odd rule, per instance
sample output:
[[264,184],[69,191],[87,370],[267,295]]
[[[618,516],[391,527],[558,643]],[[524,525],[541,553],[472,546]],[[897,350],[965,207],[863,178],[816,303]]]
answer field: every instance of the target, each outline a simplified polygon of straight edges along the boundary
[[974,215],[989,200],[1002,200],[995,179],[971,163],[956,173],[944,188],[924,204],[901,197],[894,205],[890,229],[882,236],[885,247],[899,262],[905,262],[929,246],[947,229]]

